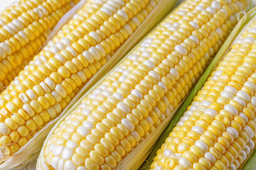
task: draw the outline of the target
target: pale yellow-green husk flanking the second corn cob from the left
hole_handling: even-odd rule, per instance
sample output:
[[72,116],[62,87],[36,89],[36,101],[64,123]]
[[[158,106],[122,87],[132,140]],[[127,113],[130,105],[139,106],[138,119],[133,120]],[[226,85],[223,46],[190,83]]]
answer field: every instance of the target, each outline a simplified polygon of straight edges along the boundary
[[[64,19],[60,19],[60,22],[55,26],[55,29],[53,30],[53,33],[51,36],[53,36],[55,33],[58,32],[58,30],[63,26],[63,24],[67,23],[72,16],[75,14],[76,11],[78,11],[80,8],[82,8],[83,4],[87,0],[80,1],[80,4],[75,6],[63,16]],[[50,132],[50,130],[53,128],[53,125],[60,120],[60,118],[68,114],[70,109],[72,110],[75,106],[80,103],[79,98],[83,94],[85,94],[86,91],[88,91],[94,84],[99,83],[99,79],[103,77],[107,72],[114,67],[114,65],[119,62],[119,60],[124,57],[124,55],[131,50],[136,43],[141,40],[146,33],[149,32],[154,26],[156,26],[159,21],[161,21],[164,16],[166,16],[169,11],[171,11],[174,6],[177,4],[177,0],[161,0],[159,1],[159,4],[156,5],[156,7],[151,11],[149,16],[146,17],[146,19],[143,21],[141,26],[137,28],[137,30],[134,31],[134,33],[126,40],[126,42],[123,43],[121,47],[115,52],[115,54],[111,57],[111,59],[100,69],[97,74],[95,74],[88,82],[87,84],[80,90],[80,92],[73,98],[73,100],[68,104],[68,106],[63,110],[62,113],[58,116],[58,118],[55,118],[52,120],[48,125],[46,125],[44,128],[42,128],[33,138],[28,141],[26,145],[21,147],[21,149],[16,152],[16,154],[13,154],[6,162],[3,164],[0,164],[0,169],[20,169],[23,167],[26,162],[31,162],[33,159],[35,159],[35,156],[33,154],[37,154],[38,151],[41,150],[41,147],[43,146],[43,141],[46,139],[46,136]],[[83,3],[83,4],[82,4]],[[71,17],[70,17],[71,16]]]

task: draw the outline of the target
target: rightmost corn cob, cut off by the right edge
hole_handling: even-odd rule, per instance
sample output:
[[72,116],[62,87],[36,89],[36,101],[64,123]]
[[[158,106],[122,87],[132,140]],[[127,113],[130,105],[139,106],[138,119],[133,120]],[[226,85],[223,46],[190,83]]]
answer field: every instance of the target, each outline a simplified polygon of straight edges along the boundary
[[151,169],[240,169],[255,149],[256,20],[238,36]]

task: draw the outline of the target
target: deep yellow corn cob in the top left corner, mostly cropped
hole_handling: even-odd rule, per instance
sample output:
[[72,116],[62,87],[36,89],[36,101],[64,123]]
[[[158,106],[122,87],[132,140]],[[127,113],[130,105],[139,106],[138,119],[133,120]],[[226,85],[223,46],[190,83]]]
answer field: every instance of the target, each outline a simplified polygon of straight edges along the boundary
[[23,1],[0,14],[0,90],[32,60],[58,20],[78,0]]

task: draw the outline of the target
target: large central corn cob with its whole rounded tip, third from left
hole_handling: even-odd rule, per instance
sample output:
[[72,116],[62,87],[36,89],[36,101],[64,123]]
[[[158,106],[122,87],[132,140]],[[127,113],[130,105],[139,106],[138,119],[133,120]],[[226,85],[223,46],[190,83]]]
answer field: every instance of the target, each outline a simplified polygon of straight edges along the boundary
[[117,168],[186,97],[246,6],[184,2],[53,130],[47,168]]

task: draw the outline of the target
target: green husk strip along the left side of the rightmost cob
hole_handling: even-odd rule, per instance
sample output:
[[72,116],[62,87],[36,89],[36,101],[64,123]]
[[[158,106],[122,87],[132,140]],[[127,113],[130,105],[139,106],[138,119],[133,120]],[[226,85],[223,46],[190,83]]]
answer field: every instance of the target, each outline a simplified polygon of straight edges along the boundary
[[[244,16],[242,16],[243,14],[244,14]],[[141,169],[141,170],[150,169],[150,165],[153,162],[154,157],[156,156],[157,150],[161,148],[161,145],[165,142],[166,137],[169,136],[169,133],[171,132],[171,130],[175,127],[176,123],[178,123],[180,118],[183,116],[183,113],[187,110],[188,106],[193,101],[194,96],[196,96],[198,91],[202,88],[203,84],[206,82],[206,80],[210,76],[211,72],[213,72],[213,69],[218,64],[218,62],[220,62],[220,60],[223,59],[223,57],[228,52],[228,50],[230,50],[230,47],[233,45],[233,42],[236,40],[236,38],[238,38],[240,33],[242,33],[242,31],[248,25],[250,25],[250,23],[255,18],[256,18],[256,7],[252,8],[248,13],[240,13],[240,15],[238,15],[238,20],[240,20],[240,21],[235,26],[233,31],[230,33],[228,38],[225,40],[225,42],[223,43],[220,50],[218,51],[218,53],[213,58],[213,61],[210,62],[208,68],[206,69],[206,72],[204,72],[203,76],[201,77],[201,79],[199,79],[198,83],[193,88],[191,93],[187,96],[186,100],[178,108],[178,110],[174,113],[175,116],[174,116],[173,120],[171,120],[171,122],[168,122],[169,125],[167,125],[166,128],[163,128],[163,129],[159,130],[160,135],[158,133],[154,133],[154,137],[152,137],[152,138],[157,138],[157,139],[159,138],[159,140],[155,143],[154,146],[153,146],[153,144],[151,145],[151,148],[149,148],[148,152],[146,153],[146,154],[149,155],[149,157],[147,157],[146,161],[144,162],[144,164],[142,164],[142,166],[140,166],[139,169]],[[155,139],[149,140],[149,143],[153,143],[153,140],[155,140]],[[144,151],[142,151],[142,152],[144,152]],[[254,159],[256,159],[256,153],[255,153],[255,158]],[[251,170],[256,169],[256,164],[253,163],[253,161],[252,161],[251,164],[253,164],[254,168],[245,168],[245,169],[251,169]]]

